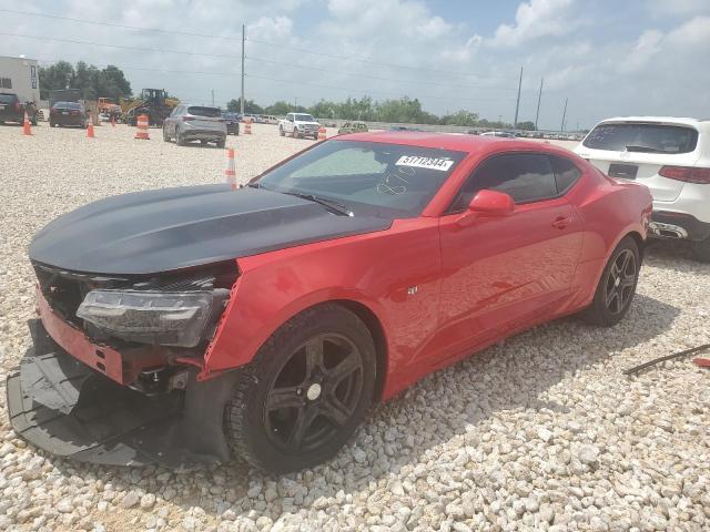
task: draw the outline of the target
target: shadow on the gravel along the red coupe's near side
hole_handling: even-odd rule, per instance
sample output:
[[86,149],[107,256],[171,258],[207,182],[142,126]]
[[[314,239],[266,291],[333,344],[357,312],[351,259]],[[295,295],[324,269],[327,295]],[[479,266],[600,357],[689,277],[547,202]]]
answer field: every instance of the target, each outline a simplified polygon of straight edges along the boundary
[[[433,451],[454,438],[477,430],[485,434],[500,412],[527,409],[568,412],[567,406],[540,397],[565,378],[651,340],[669,329],[679,314],[677,307],[637,294],[627,317],[612,328],[588,326],[575,317],[535,327],[432,374],[394,399],[375,406],[356,436],[333,460],[283,477],[263,474],[239,460],[184,473],[156,467],[109,468],[62,460],[54,460],[54,464],[67,475],[101,479],[115,489],[154,493],[159,501],[166,497],[166,490],[172,491],[170,504],[184,511],[201,507],[206,519],[214,519],[227,509],[237,515],[248,514],[253,520],[261,515],[275,520],[314,505],[317,510],[318,499],[312,493],[298,495],[305,482],[311,488],[317,487],[320,498],[342,500],[343,494],[355,494],[371,482],[426,463]],[[625,377],[619,372],[605,378]],[[381,451],[384,449],[385,454],[376,456],[373,443]],[[264,487],[273,488],[268,502],[264,499]],[[246,497],[250,489],[261,495]]]

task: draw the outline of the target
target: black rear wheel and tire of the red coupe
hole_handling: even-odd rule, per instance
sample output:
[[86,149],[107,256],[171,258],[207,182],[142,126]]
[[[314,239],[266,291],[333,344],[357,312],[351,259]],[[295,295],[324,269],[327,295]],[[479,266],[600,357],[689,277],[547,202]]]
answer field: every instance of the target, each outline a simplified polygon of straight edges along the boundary
[[636,294],[640,266],[636,241],[630,236],[623,237],[605,266],[595,298],[582,313],[582,319],[601,327],[612,327],[621,321]]

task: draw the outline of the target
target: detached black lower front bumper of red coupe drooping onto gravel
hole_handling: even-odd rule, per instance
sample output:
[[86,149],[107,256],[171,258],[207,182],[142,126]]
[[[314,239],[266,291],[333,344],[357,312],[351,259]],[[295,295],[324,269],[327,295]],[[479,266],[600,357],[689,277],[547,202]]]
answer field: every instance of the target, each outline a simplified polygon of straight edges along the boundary
[[186,389],[146,396],[62,349],[39,319],[33,346],[7,379],[14,431],[45,451],[106,466],[161,464],[189,470],[230,460],[222,429],[234,372]]

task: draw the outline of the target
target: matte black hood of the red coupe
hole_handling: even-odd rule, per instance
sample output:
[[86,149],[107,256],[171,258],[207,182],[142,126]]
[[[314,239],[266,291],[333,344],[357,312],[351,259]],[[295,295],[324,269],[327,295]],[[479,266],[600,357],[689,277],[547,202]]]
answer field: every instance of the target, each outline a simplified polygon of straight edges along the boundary
[[62,269],[145,275],[383,231],[392,221],[338,216],[263,188],[203,185],[113,196],[60,216],[30,258]]

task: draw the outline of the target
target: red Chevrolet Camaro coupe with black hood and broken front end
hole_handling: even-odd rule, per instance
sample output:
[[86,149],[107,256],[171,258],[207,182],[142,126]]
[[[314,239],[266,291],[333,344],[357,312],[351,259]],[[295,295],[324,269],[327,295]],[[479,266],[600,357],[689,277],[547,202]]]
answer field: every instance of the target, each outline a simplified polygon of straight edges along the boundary
[[239,190],[109,197],[32,241],[14,430],[109,464],[332,457],[373,401],[536,324],[612,326],[651,196],[528,141],[361,133]]

